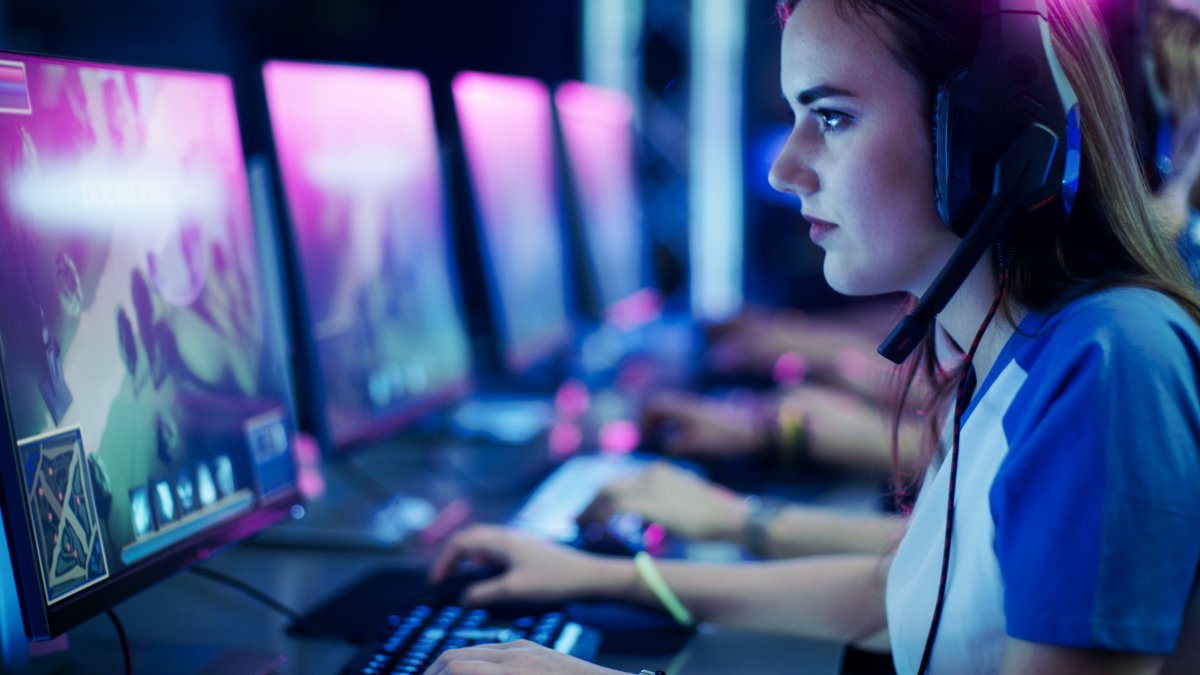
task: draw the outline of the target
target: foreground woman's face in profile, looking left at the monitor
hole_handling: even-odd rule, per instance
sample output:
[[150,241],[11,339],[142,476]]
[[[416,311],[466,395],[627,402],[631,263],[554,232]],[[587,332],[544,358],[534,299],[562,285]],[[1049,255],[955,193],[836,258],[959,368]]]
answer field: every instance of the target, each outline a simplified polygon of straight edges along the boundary
[[888,50],[888,26],[803,0],[784,29],[780,79],[796,117],[770,169],[800,198],[840,293],[922,294],[959,239],[937,217],[924,94]]

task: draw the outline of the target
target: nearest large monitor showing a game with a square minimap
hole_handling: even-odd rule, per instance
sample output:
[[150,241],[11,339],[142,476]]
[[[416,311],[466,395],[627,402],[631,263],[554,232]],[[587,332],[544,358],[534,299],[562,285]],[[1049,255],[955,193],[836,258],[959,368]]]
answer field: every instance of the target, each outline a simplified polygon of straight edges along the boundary
[[233,84],[0,55],[0,486],[31,638],[282,518]]

